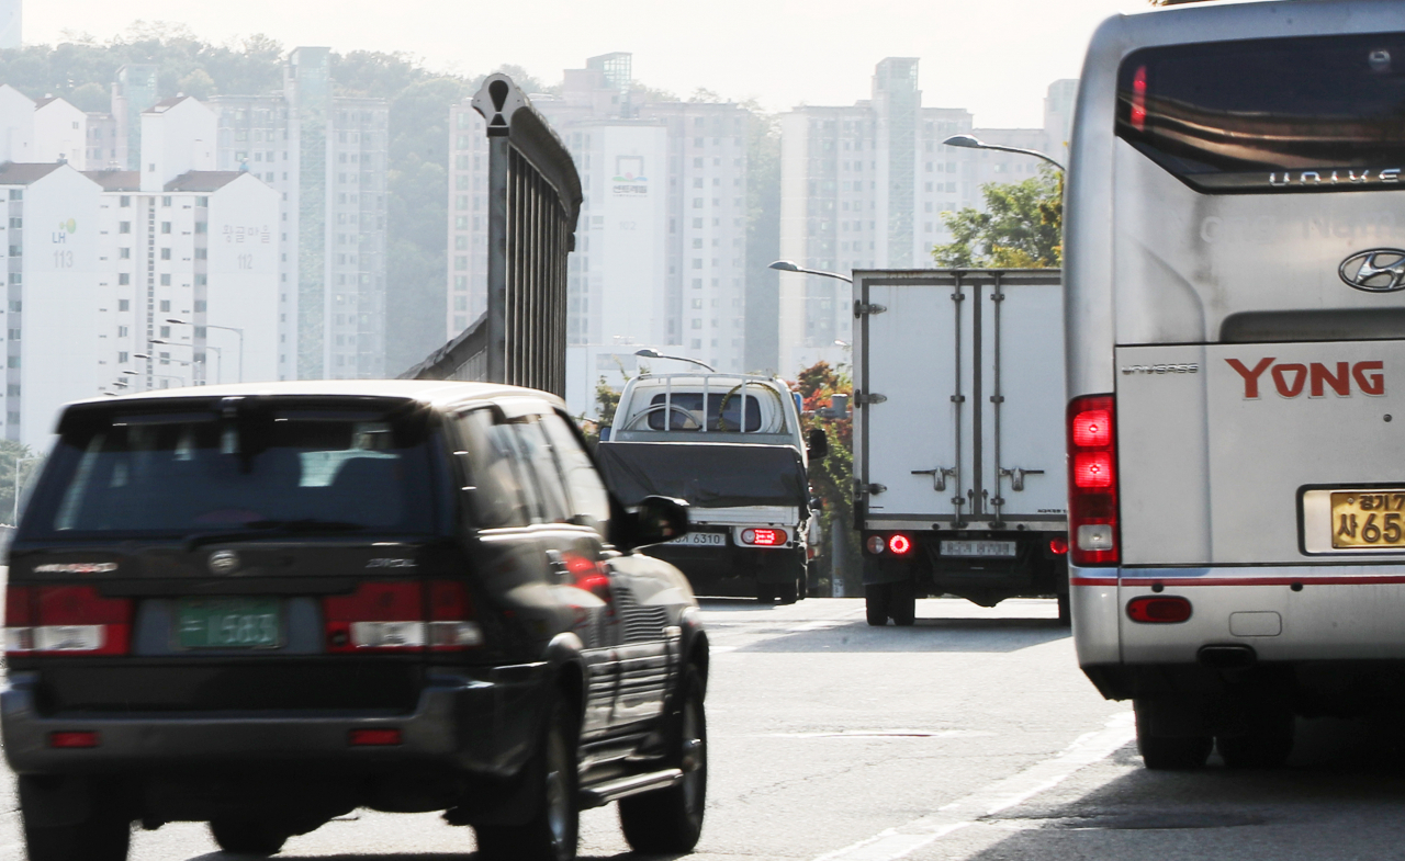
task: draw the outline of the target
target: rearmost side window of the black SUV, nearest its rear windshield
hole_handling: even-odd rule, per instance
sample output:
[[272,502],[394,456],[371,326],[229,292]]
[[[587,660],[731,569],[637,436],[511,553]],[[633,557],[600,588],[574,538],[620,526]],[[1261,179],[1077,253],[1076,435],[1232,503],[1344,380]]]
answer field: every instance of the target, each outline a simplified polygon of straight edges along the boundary
[[489,409],[461,413],[454,426],[457,454],[475,487],[475,522],[483,528],[530,524],[532,506],[523,489],[523,464],[511,426],[499,421]]

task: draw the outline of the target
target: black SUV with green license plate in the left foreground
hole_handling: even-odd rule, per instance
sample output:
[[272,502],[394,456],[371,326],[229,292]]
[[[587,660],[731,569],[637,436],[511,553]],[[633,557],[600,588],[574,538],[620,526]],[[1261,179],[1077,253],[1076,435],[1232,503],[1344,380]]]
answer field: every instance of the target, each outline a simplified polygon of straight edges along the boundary
[[445,810],[492,858],[702,827],[708,646],[551,395],[458,382],[69,406],[10,551],[0,695],[32,861],[133,822],[273,854],[355,808]]

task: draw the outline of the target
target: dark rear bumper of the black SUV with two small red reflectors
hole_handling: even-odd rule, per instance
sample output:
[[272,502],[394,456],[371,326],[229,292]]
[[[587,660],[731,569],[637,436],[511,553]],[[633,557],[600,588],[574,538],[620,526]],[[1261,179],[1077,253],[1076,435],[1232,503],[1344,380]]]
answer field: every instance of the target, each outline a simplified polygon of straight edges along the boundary
[[[451,767],[517,773],[544,714],[547,664],[497,667],[486,678],[436,674],[407,715],[348,712],[55,714],[38,708],[38,677],[13,673],[0,730],[18,774],[132,773],[228,765],[318,764],[346,771]],[[510,719],[509,719],[510,716]],[[395,729],[399,744],[353,746],[351,732]],[[49,746],[55,732],[96,732],[98,744]]]

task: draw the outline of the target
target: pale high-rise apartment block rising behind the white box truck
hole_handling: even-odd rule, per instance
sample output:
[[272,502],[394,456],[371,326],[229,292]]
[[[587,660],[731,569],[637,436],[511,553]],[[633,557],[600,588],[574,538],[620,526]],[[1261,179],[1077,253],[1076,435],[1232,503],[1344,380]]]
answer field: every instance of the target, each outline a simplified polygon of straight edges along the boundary
[[[981,208],[984,184],[1027,180],[1041,164],[941,142],[975,135],[986,143],[1059,153],[1076,88],[1078,81],[1050,87],[1045,128],[976,128],[969,111],[922,104],[916,58],[887,58],[874,70],[870,98],[783,114],[781,258],[844,275],[933,265],[932,249],[951,242],[943,212]],[[783,274],[781,368],[849,361],[850,303],[843,281]]]

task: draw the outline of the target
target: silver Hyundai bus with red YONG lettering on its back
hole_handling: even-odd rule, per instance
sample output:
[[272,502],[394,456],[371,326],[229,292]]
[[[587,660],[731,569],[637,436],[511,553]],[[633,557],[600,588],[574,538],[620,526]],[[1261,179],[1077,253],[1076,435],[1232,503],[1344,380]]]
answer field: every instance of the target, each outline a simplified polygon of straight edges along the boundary
[[1078,659],[1151,768],[1405,705],[1405,3],[1087,52],[1066,221]]

